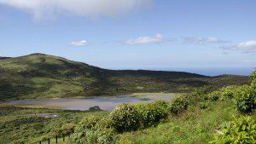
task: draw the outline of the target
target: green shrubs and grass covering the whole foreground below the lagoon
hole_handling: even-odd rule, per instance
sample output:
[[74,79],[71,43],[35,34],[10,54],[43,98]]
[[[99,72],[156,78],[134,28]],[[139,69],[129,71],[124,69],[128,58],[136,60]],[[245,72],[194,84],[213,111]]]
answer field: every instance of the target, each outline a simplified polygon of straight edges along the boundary
[[[256,72],[251,78],[247,85],[217,91],[205,86],[172,101],[124,104],[112,112],[3,106],[0,141],[35,143],[66,137],[66,143],[81,144],[256,143]],[[17,116],[35,112],[57,113],[59,117]]]

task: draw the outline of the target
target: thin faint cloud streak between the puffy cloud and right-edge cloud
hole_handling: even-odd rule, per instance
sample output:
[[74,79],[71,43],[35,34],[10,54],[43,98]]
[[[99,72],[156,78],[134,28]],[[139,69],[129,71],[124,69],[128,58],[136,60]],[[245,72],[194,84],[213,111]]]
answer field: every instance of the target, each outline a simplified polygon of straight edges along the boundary
[[229,43],[230,41],[221,40],[216,37],[183,37],[183,42],[205,44],[205,43]]

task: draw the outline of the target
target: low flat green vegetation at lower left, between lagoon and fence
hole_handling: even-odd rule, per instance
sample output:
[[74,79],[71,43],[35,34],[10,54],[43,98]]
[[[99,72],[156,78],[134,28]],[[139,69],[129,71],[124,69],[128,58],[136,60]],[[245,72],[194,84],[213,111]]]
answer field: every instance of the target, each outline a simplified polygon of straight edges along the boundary
[[[29,115],[34,113],[55,113],[58,115],[58,118],[40,118]],[[81,112],[46,108],[1,106],[0,143],[15,143],[15,141],[17,141],[16,143],[38,143],[38,141],[45,141],[49,136],[55,134],[61,138],[65,130],[67,130],[67,132],[72,130],[69,129],[73,127],[72,124],[76,126],[82,118],[90,117],[91,115],[105,117],[108,114],[109,112],[103,111]],[[71,138],[73,138],[73,135],[71,135]]]

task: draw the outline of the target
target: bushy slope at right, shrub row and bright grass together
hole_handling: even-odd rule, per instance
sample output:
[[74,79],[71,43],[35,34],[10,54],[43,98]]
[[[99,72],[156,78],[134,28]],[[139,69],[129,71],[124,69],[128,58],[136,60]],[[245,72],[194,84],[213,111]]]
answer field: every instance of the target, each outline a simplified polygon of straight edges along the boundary
[[[206,86],[171,102],[124,104],[105,118],[104,129],[119,136],[106,143],[255,143],[254,90],[253,84],[219,91]],[[229,126],[222,126],[232,120]]]

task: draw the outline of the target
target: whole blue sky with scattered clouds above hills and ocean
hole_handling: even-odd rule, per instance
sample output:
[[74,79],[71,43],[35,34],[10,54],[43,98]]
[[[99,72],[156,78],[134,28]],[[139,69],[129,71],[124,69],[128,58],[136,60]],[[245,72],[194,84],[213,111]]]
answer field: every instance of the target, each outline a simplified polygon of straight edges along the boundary
[[0,0],[0,55],[112,69],[256,66],[253,0]]

